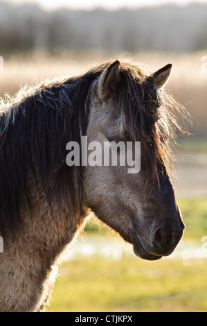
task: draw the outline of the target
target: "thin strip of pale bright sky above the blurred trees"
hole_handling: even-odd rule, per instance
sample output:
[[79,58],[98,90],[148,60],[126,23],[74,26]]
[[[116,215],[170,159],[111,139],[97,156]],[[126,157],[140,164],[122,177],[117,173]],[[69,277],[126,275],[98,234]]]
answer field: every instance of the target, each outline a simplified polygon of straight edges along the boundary
[[11,3],[38,3],[46,10],[57,8],[87,9],[101,7],[111,10],[118,8],[140,8],[143,6],[157,6],[160,4],[177,3],[180,6],[188,3],[207,3],[207,0],[9,0]]

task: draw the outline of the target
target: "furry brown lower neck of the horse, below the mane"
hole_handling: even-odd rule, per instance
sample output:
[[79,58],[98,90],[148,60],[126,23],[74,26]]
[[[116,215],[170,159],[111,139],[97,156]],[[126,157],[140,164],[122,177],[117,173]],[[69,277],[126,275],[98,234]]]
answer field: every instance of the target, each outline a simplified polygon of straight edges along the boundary
[[31,222],[21,207],[22,225],[15,239],[8,237],[8,247],[0,255],[0,311],[42,309],[55,282],[60,254],[77,233],[72,214],[51,212],[44,193],[33,194],[32,209]]

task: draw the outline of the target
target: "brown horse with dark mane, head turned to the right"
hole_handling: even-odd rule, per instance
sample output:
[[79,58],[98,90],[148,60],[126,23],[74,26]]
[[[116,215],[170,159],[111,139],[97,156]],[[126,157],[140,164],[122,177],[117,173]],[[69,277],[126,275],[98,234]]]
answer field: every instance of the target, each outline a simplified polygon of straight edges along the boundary
[[[177,247],[185,225],[169,171],[185,113],[165,89],[171,69],[116,60],[1,99],[0,311],[46,309],[61,254],[91,212],[142,259]],[[66,144],[82,136],[140,142],[140,171],[69,166]]]

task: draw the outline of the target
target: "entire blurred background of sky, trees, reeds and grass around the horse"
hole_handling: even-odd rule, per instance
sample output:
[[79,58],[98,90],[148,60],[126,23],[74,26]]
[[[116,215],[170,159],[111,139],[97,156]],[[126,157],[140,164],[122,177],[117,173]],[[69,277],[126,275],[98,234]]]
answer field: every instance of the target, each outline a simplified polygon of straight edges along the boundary
[[94,217],[66,250],[48,311],[207,311],[207,0],[0,0],[0,96],[124,58],[172,63],[168,89],[192,116],[172,181],[186,232],[142,261]]

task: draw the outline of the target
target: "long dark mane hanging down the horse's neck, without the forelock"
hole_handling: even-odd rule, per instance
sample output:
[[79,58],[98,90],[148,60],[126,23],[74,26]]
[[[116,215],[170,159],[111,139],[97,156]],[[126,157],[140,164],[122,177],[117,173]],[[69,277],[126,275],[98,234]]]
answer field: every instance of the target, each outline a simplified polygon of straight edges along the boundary
[[[3,221],[15,228],[20,221],[19,203],[30,213],[32,194],[26,179],[42,182],[48,203],[66,207],[71,196],[73,211],[82,214],[82,194],[73,189],[73,169],[65,164],[66,143],[80,142],[86,126],[87,96],[100,73],[44,83],[22,89],[16,98],[1,103],[0,117],[0,231]],[[60,212],[60,211],[59,211]]]

